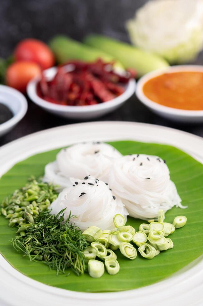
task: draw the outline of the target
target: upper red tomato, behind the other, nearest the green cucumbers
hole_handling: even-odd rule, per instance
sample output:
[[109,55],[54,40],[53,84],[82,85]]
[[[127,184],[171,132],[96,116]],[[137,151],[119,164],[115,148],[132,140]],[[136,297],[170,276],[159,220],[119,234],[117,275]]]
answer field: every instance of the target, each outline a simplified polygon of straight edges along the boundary
[[51,49],[40,40],[28,38],[19,42],[14,50],[17,61],[35,62],[42,69],[54,66],[54,54]]

